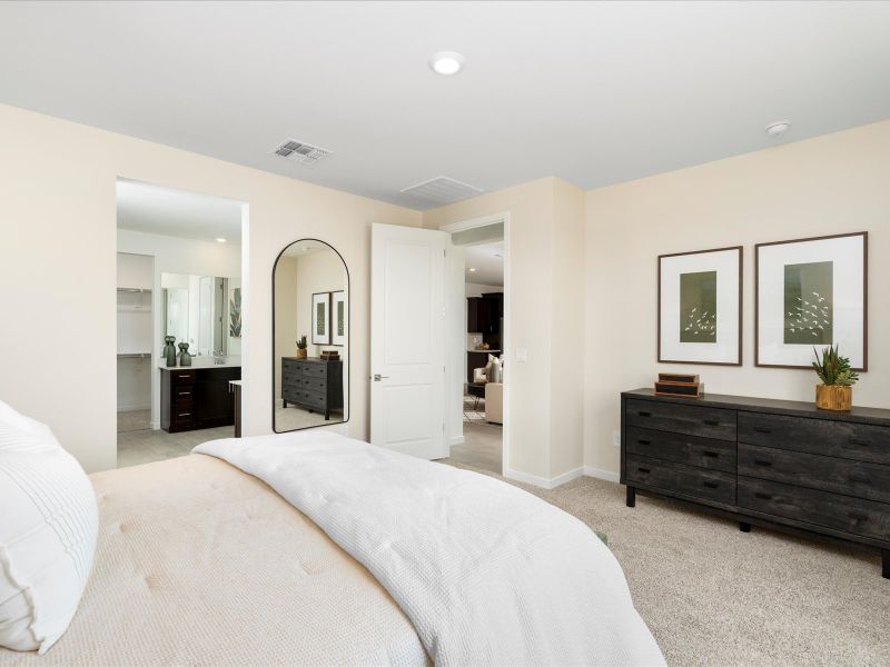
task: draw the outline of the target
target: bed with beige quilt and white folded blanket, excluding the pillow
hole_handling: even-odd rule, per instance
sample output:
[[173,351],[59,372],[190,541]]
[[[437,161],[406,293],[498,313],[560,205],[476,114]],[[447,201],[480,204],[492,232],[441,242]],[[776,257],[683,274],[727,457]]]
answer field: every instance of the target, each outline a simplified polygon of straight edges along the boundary
[[324,431],[196,451],[90,476],[80,607],[0,665],[663,664],[607,548],[511,485]]

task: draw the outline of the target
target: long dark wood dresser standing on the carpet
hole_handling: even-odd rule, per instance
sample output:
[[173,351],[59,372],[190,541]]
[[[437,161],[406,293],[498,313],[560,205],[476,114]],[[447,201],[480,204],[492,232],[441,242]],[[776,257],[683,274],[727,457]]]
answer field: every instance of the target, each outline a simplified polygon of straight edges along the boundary
[[890,578],[890,410],[621,395],[621,482],[752,525],[854,542]]

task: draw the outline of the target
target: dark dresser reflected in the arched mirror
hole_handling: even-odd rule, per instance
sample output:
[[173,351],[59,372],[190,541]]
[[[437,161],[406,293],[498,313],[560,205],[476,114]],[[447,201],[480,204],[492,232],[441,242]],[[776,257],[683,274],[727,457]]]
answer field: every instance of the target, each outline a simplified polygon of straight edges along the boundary
[[281,399],[310,412],[343,409],[343,360],[281,357]]

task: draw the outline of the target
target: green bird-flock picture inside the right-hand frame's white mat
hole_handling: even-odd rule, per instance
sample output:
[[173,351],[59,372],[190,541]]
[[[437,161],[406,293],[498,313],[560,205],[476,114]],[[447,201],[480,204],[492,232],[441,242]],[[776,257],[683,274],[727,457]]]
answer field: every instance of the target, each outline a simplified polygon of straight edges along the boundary
[[830,345],[833,339],[834,267],[830,261],[785,265],[784,342]]

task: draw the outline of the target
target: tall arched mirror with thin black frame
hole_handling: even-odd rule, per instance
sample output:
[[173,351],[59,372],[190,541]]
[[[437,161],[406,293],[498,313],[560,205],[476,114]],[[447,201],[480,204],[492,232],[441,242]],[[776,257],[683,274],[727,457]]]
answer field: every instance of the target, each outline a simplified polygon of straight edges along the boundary
[[301,239],[273,268],[273,429],[349,419],[349,270],[329,245]]

